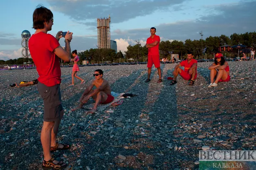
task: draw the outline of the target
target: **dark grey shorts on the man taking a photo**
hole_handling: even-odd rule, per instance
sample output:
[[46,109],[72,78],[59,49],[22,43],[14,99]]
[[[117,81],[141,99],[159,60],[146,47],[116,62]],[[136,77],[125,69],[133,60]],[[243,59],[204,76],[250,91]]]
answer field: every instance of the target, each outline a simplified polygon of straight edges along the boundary
[[37,89],[43,98],[43,121],[60,121],[64,113],[60,85],[48,87],[38,82]]

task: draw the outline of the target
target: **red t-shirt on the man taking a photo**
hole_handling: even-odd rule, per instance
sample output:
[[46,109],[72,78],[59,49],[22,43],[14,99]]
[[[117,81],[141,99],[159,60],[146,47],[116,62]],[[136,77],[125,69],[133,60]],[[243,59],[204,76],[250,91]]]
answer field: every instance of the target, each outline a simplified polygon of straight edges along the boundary
[[38,81],[48,87],[61,83],[59,58],[53,52],[59,45],[54,36],[44,32],[33,34],[28,40],[28,48],[39,74]]

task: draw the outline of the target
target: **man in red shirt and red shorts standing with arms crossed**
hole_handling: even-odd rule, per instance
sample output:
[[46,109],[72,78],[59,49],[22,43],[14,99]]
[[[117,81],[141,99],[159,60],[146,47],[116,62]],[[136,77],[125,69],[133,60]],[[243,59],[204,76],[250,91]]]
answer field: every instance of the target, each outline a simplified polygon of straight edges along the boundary
[[153,64],[157,68],[159,80],[157,83],[162,83],[160,58],[159,58],[159,43],[160,37],[156,35],[156,28],[150,28],[151,36],[147,39],[146,47],[148,48],[148,79],[145,82],[150,81],[151,68]]

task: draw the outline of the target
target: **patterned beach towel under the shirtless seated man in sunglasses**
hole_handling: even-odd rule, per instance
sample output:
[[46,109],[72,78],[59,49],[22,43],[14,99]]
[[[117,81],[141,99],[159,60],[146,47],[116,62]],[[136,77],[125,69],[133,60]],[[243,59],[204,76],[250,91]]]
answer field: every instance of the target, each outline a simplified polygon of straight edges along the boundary
[[[121,105],[124,102],[124,93],[115,93],[114,91],[111,91],[111,95],[115,98],[112,102],[108,104],[99,104],[97,107],[97,111],[104,111],[108,106],[117,106]],[[83,108],[92,109],[95,103],[87,104],[83,106]]]

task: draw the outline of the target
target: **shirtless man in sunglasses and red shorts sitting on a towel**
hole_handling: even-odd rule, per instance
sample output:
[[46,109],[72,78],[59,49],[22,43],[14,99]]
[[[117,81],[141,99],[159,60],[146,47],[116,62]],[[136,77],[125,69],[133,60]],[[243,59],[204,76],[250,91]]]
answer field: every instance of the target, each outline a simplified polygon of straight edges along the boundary
[[[85,92],[82,94],[79,100],[79,106],[72,109],[72,111],[82,108],[82,106],[91,97],[93,100],[95,100],[95,104],[89,113],[95,113],[99,104],[108,104],[114,100],[114,97],[111,96],[111,88],[108,81],[102,78],[103,71],[100,69],[95,70],[93,76],[95,77],[95,80],[93,80],[91,84],[85,89]],[[92,89],[93,86],[96,87],[95,90]]]

